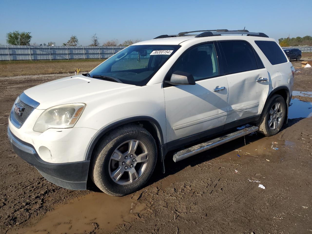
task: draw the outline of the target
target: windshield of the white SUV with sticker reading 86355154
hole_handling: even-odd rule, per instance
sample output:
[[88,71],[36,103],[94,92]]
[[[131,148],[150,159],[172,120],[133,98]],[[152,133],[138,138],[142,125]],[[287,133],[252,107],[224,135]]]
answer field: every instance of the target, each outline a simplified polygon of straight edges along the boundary
[[179,45],[129,46],[93,69],[90,76],[105,80],[105,77],[110,77],[110,80],[115,78],[125,84],[143,86],[179,47]]

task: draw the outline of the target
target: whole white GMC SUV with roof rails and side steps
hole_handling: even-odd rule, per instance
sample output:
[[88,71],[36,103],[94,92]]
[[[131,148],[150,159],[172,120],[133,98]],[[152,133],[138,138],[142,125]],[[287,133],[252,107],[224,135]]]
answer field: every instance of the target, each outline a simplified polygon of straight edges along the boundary
[[14,151],[61,187],[93,181],[122,196],[157,161],[164,170],[168,151],[177,162],[254,131],[278,133],[294,81],[281,47],[264,33],[197,32],[136,43],[90,73],[25,90],[9,117]]

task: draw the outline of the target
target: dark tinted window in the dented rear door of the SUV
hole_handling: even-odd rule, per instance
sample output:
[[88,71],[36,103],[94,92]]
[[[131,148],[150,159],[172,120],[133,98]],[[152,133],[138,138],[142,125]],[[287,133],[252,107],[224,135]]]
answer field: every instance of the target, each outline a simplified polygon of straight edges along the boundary
[[222,41],[220,43],[229,73],[258,69],[254,51],[246,41]]

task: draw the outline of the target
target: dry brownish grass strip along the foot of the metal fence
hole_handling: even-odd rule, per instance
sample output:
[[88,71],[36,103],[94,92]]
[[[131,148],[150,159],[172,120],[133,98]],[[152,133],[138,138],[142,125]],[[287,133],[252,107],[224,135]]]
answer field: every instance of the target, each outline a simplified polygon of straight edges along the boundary
[[[312,53],[302,53],[302,59],[307,58],[312,58]],[[102,59],[0,61],[0,76],[74,73],[77,68],[80,68],[80,72],[91,71],[103,61]]]

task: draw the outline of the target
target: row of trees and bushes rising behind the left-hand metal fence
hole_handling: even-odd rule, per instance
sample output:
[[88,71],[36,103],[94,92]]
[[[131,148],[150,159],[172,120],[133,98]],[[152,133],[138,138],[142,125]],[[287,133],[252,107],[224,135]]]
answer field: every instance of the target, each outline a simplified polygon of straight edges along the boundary
[[[10,45],[15,46],[52,46],[55,45],[55,42],[48,42],[48,44],[37,44],[37,43],[30,43],[32,36],[30,35],[31,32],[19,32],[19,31],[13,31],[7,33],[7,43]],[[117,39],[112,39],[105,41],[102,46],[130,46],[134,43],[137,43],[141,41],[140,39],[136,40],[126,40],[123,43],[119,43]],[[77,36],[72,35],[67,42],[64,42],[62,46],[78,46],[79,40]],[[91,37],[91,43],[89,46],[100,46],[100,39],[98,36],[96,36],[96,33],[92,35]]]

